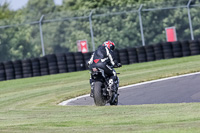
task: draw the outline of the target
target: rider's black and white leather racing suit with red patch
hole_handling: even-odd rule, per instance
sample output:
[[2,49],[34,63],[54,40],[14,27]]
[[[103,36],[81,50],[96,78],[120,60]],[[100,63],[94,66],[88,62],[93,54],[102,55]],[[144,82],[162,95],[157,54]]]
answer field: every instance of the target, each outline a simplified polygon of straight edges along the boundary
[[[117,80],[117,75],[115,70],[110,66],[115,66],[117,64],[118,62],[115,60],[114,52],[102,45],[99,46],[98,49],[92,54],[88,62],[90,70],[95,67],[103,69],[104,72],[110,77],[109,84],[112,85],[114,85],[114,82]],[[92,79],[90,79],[90,84],[92,85]],[[114,86],[113,89],[115,88],[116,87]]]

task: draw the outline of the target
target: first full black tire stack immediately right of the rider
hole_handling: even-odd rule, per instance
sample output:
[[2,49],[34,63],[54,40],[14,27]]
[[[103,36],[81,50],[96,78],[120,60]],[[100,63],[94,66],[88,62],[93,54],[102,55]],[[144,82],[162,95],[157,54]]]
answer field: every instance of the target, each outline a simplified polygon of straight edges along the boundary
[[128,65],[129,64],[129,57],[128,57],[127,49],[120,49],[119,50],[119,59],[120,59],[122,65]]

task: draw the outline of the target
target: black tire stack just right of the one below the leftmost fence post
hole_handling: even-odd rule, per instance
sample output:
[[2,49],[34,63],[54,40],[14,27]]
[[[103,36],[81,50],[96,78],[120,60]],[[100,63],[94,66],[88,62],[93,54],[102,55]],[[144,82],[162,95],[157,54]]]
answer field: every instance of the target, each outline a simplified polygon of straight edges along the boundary
[[55,54],[46,55],[49,74],[57,74],[58,73],[58,65],[57,65],[57,58]]

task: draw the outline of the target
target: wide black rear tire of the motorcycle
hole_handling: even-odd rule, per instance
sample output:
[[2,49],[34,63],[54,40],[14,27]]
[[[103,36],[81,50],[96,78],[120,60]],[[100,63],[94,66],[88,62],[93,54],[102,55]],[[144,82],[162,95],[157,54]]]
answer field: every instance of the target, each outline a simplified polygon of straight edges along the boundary
[[94,83],[94,103],[96,106],[106,105],[106,100],[103,97],[102,82],[99,81]]

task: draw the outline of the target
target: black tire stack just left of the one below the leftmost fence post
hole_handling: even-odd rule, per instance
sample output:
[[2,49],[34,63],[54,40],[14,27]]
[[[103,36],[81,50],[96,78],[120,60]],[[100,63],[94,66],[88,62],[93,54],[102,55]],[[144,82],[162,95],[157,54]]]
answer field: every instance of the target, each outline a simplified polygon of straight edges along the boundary
[[32,69],[33,69],[33,77],[41,76],[40,73],[40,61],[38,58],[31,59]]

